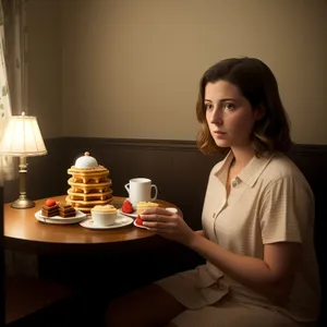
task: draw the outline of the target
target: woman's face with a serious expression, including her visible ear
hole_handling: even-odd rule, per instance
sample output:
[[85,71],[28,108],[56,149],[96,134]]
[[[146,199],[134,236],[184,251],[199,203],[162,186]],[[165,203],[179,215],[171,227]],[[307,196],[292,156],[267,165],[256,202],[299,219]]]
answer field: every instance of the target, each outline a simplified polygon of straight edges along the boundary
[[249,147],[254,123],[262,118],[239,88],[227,82],[208,83],[205,87],[206,120],[219,147]]

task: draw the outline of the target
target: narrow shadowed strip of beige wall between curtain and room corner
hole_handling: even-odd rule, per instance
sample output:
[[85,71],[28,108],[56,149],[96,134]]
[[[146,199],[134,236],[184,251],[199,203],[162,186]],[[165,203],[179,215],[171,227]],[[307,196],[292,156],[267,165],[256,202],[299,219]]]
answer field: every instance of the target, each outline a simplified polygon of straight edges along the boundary
[[38,119],[43,135],[62,134],[60,0],[28,0],[28,113]]

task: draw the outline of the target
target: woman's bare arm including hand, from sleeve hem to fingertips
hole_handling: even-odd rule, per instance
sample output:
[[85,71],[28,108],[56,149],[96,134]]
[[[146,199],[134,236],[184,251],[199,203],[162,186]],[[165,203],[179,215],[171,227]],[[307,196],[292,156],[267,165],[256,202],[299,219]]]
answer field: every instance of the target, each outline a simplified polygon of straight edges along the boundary
[[193,231],[177,214],[167,215],[162,208],[146,210],[143,225],[164,238],[177,241],[197,252],[221,271],[268,298],[283,302],[299,267],[302,246],[295,242],[265,245],[264,259],[235,254]]

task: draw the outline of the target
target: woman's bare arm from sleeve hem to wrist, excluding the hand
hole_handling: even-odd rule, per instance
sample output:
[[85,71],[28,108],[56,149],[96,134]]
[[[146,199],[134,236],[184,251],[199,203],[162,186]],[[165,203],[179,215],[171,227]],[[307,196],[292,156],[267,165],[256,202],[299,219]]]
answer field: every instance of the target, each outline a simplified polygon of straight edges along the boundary
[[196,232],[185,242],[185,245],[234,280],[275,303],[283,302],[287,299],[302,253],[300,243],[267,244],[262,261],[227,251]]

